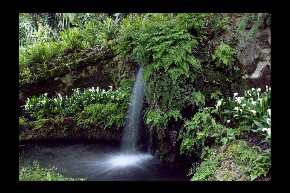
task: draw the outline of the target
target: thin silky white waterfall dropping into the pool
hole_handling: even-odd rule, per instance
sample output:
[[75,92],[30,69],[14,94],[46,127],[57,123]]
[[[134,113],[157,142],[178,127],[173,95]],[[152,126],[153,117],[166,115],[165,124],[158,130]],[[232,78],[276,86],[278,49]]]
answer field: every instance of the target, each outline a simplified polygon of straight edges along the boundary
[[144,92],[144,83],[141,83],[142,80],[142,70],[140,67],[135,78],[135,85],[132,93],[132,98],[128,111],[128,118],[124,127],[124,133],[122,138],[121,150],[122,151],[131,151],[134,147],[134,139],[136,140],[139,135],[139,129],[142,125],[142,103],[145,97]]

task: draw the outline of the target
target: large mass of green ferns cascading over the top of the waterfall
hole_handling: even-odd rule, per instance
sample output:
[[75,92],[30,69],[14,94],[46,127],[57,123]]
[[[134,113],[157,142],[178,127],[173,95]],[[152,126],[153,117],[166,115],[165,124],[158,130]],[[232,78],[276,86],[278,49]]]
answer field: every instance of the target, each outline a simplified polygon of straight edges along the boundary
[[[186,82],[190,85],[195,70],[201,67],[200,60],[192,55],[197,41],[186,28],[192,23],[184,26],[182,22],[184,17],[189,16],[181,14],[173,18],[168,14],[163,19],[161,16],[164,15],[128,16],[122,26],[126,33],[117,47],[127,60],[143,63],[142,79],[149,104],[155,101],[164,111],[182,109],[190,92]],[[199,99],[202,102],[202,98]]]

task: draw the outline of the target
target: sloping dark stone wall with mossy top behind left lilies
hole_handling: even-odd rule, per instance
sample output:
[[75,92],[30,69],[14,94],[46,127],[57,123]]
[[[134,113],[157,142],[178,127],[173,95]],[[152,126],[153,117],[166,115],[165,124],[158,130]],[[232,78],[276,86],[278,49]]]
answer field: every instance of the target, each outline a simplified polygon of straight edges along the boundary
[[[73,56],[70,56],[73,58]],[[84,53],[81,59],[70,63],[56,66],[47,72],[36,74],[34,82],[28,83],[29,80],[23,79],[19,82],[19,114],[22,111],[22,105],[25,105],[27,98],[39,94],[48,93],[53,96],[61,93],[62,95],[70,95],[72,89],[80,88],[90,89],[91,87],[99,87],[108,90],[109,86],[117,87],[113,78],[118,78],[119,69],[116,54],[113,49],[106,51],[92,51]],[[59,63],[59,59],[52,59],[51,63]],[[36,82],[36,83],[35,83]]]

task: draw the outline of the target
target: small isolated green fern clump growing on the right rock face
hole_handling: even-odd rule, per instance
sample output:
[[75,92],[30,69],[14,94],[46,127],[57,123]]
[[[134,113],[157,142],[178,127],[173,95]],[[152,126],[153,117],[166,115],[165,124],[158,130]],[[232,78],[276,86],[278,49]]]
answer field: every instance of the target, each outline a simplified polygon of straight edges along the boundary
[[215,54],[213,54],[213,60],[215,59],[217,59],[217,67],[224,68],[226,66],[229,70],[232,69],[235,61],[235,48],[231,48],[222,42],[220,47],[215,50]]

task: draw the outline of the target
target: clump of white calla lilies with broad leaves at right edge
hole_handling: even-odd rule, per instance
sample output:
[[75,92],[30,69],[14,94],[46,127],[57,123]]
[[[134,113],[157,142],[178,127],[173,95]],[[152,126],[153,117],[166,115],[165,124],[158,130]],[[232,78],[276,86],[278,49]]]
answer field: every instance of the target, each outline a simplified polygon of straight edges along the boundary
[[261,89],[245,91],[243,97],[217,99],[216,110],[213,111],[220,116],[222,122],[233,121],[234,125],[239,125],[247,121],[251,125],[252,131],[258,135],[265,136],[262,142],[271,145],[271,87],[266,92],[261,93]]

